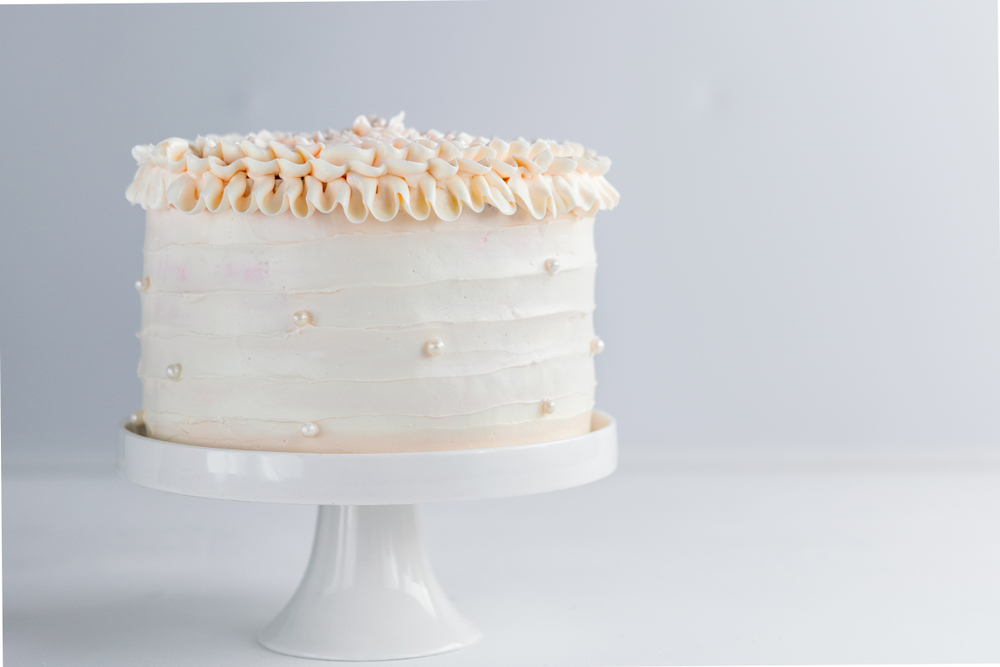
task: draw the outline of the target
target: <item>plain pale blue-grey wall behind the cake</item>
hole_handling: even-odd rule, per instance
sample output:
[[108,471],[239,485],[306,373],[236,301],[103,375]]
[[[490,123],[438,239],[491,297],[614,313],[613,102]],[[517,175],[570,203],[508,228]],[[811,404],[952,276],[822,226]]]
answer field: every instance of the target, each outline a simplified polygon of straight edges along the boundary
[[995,3],[0,7],[7,465],[110,465],[134,144],[350,125],[612,158],[623,454],[997,452]]

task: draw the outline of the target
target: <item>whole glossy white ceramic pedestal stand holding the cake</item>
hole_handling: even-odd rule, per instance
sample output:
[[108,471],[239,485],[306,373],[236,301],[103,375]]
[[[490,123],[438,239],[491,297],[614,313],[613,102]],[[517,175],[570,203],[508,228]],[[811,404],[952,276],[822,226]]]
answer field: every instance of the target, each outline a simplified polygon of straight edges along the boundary
[[327,660],[415,658],[472,644],[424,551],[415,505],[579,486],[618,463],[615,422],[536,445],[411,454],[296,454],[180,445],[119,428],[125,479],[189,496],[319,505],[306,573],[260,634],[272,651]]

